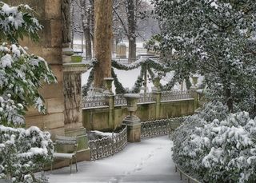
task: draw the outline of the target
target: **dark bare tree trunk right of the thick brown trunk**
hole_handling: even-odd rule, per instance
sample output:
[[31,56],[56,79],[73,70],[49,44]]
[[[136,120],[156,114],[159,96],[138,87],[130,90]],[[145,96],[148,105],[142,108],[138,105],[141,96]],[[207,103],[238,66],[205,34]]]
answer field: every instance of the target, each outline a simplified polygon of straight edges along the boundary
[[134,62],[136,59],[136,20],[134,16],[134,0],[127,0],[127,19],[128,19],[128,42],[129,54],[128,61]]

